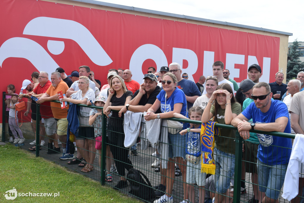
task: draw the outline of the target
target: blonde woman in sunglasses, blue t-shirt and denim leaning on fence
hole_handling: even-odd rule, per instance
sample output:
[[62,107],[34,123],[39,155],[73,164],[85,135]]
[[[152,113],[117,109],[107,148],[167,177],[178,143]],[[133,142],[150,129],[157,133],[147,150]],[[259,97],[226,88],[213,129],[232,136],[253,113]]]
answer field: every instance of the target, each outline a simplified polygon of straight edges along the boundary
[[[164,74],[161,83],[163,89],[157,95],[157,99],[155,100],[152,107],[148,109],[147,115],[145,115],[145,119],[147,121],[150,121],[153,119],[172,118],[174,113],[179,113],[181,115],[187,116],[187,100],[184,92],[176,87],[177,79],[175,75],[172,73]],[[161,108],[161,113],[155,114],[155,112],[159,108]],[[166,175],[166,182],[163,182],[166,186],[166,194],[161,196],[159,201],[173,201],[173,198],[171,197],[171,192],[175,177],[175,162],[179,164],[179,167],[183,174],[183,181],[186,182],[185,148],[187,148],[187,137],[186,135],[181,136],[179,134],[179,131],[177,131],[175,134],[171,134],[170,132],[168,132],[168,143],[168,168],[166,170],[166,174],[162,174]],[[167,194],[170,197],[168,197]]]

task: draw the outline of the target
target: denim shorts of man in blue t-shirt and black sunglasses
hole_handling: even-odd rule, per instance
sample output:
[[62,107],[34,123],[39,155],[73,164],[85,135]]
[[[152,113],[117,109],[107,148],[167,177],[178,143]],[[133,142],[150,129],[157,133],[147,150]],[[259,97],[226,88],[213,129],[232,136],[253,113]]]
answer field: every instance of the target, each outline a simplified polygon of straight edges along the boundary
[[[271,199],[278,199],[283,186],[287,164],[266,165],[257,160],[258,183],[261,192]],[[267,188],[266,188],[267,187]]]

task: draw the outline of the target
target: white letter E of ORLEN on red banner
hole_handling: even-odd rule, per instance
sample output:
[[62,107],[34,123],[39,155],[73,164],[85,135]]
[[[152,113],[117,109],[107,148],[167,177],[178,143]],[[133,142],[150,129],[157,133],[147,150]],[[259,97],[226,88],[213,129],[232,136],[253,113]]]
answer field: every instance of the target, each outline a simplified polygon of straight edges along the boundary
[[231,78],[234,80],[234,77],[240,77],[240,69],[234,68],[234,64],[244,64],[245,55],[226,53],[226,64],[225,68],[229,70]]

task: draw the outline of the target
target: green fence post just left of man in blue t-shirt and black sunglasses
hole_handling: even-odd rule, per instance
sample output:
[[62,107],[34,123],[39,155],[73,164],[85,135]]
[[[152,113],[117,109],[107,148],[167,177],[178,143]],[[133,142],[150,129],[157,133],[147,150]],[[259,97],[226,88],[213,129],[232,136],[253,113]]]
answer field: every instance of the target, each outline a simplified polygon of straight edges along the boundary
[[235,139],[235,167],[234,167],[234,190],[233,190],[233,203],[240,202],[241,196],[241,170],[242,170],[242,148],[243,138],[237,131]]

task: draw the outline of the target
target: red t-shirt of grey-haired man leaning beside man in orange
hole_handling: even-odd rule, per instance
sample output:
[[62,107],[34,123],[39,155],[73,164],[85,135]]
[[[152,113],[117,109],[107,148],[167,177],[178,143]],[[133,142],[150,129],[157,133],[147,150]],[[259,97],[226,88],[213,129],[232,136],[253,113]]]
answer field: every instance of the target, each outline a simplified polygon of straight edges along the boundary
[[[50,87],[50,85],[52,85],[52,83],[49,80],[43,86],[41,86],[41,84],[38,84],[37,87],[33,90],[33,92],[36,95],[40,95],[42,93],[46,93],[47,89]],[[49,118],[53,118],[54,117],[53,113],[52,113],[51,102],[50,101],[43,102],[40,105],[40,115],[41,115],[41,118],[43,118],[43,119],[49,119]]]

